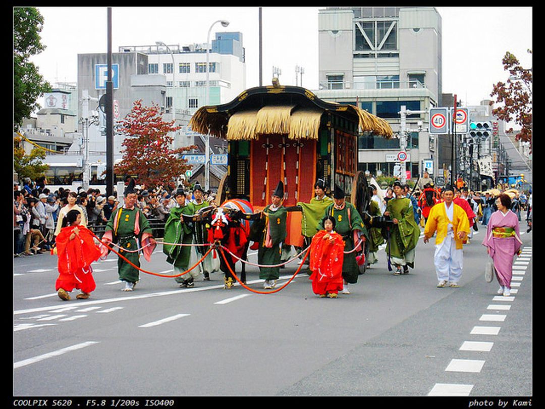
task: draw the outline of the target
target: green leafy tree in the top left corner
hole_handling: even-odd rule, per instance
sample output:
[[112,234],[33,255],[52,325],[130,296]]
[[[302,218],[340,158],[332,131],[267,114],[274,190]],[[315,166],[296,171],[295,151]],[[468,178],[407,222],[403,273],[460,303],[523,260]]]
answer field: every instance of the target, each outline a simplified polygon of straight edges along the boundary
[[13,9],[13,109],[14,130],[23,119],[38,109],[38,97],[51,91],[49,82],[38,72],[38,67],[29,58],[45,49],[41,44],[40,32],[44,17],[34,7]]

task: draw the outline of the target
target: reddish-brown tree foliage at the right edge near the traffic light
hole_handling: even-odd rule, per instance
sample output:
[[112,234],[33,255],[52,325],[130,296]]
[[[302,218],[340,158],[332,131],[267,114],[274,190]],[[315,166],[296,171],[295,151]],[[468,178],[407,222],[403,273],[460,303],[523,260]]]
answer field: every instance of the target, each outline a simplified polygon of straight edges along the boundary
[[[528,50],[531,54],[532,51]],[[520,132],[515,139],[530,142],[532,149],[532,69],[523,68],[517,57],[506,52],[501,60],[504,69],[511,74],[506,82],[494,85],[490,96],[496,97],[495,102],[501,105],[492,110],[492,114],[505,122],[520,125]],[[512,129],[508,130],[511,132]]]

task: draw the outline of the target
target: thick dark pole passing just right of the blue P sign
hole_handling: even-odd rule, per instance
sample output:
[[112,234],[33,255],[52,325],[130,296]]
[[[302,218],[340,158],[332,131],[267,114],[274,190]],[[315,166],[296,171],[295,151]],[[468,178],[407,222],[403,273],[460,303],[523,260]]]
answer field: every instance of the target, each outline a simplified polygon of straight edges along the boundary
[[[108,77],[106,81],[106,196],[113,195],[112,8],[108,7]],[[120,192],[118,192],[119,194]],[[121,192],[122,193],[122,192]]]

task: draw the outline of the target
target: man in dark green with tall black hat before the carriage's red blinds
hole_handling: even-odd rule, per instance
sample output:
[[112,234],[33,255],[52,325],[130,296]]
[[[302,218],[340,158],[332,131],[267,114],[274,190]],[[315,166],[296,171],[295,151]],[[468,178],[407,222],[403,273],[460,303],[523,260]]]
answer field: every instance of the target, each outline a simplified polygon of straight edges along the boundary
[[[278,182],[276,190],[272,194],[272,203],[265,207],[261,217],[265,218],[265,228],[259,242],[257,260],[259,264],[275,266],[280,264],[282,255],[282,243],[286,239],[286,220],[288,212],[282,206],[284,197],[284,184]],[[259,278],[265,280],[263,288],[270,289],[276,285],[280,276],[280,267],[259,267]]]

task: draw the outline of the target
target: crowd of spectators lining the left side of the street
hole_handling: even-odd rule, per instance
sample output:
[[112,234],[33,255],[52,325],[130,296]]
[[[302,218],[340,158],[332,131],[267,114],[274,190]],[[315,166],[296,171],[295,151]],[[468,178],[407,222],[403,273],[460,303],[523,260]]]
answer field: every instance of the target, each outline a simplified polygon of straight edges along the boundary
[[[41,254],[53,248],[59,212],[68,204],[69,195],[76,195],[76,204],[82,210],[85,225],[92,231],[104,230],[119,206],[115,188],[113,195],[108,197],[99,189],[84,190],[81,187],[77,191],[62,187],[51,191],[45,178],[34,182],[24,178],[22,184],[14,182],[13,188],[14,257]],[[136,188],[136,205],[147,218],[165,222],[170,209],[175,206],[173,190],[163,186],[148,189],[137,185]],[[192,199],[190,192],[187,199]],[[215,194],[207,192],[205,200],[214,201]]]

